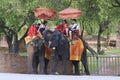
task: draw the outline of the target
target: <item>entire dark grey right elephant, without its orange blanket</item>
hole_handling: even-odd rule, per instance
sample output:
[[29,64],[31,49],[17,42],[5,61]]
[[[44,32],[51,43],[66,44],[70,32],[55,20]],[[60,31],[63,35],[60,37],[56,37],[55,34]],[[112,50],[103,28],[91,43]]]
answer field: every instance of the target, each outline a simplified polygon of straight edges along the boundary
[[[45,34],[44,34],[45,35]],[[62,58],[62,74],[67,74],[66,72],[66,63],[70,56],[69,50],[69,41],[68,39],[60,32],[54,31],[49,39],[45,38],[45,42],[49,44],[49,47],[55,48],[54,57],[53,57],[53,65],[52,65],[52,74],[55,74],[56,67],[59,61],[59,56]],[[84,42],[83,42],[84,43]],[[85,46],[85,44],[84,44]],[[90,75],[88,64],[87,64],[87,53],[86,48],[84,48],[83,55],[81,58],[82,64],[85,68],[86,75]],[[79,75],[79,61],[72,61],[72,64],[75,66],[75,75]]]

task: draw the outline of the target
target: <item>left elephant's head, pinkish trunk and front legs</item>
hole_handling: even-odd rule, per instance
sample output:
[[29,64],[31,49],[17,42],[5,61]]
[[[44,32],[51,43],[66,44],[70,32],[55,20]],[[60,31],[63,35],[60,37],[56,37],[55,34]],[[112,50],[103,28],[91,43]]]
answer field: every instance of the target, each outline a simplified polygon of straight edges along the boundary
[[[40,74],[45,73],[45,46],[44,41],[40,38],[33,39],[30,43],[27,44],[27,53],[28,53],[28,72],[37,74],[40,70]],[[40,67],[38,69],[38,64]]]

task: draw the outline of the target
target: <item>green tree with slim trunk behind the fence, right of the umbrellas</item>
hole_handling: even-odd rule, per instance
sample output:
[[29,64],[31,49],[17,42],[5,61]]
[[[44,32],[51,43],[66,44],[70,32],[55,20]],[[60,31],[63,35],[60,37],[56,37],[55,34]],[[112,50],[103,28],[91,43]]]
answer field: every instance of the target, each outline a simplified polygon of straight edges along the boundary
[[[78,7],[82,10],[80,24],[88,34],[98,36],[97,52],[101,51],[101,35],[110,31],[111,25],[119,24],[119,0],[78,0]],[[112,26],[113,27],[113,26]],[[115,27],[113,27],[115,29]]]

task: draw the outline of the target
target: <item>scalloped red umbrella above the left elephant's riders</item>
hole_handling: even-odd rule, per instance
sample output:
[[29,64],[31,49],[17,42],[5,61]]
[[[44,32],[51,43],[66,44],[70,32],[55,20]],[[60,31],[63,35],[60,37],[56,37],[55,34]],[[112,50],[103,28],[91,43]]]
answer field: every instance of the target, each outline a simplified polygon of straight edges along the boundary
[[38,19],[52,19],[56,14],[54,10],[48,8],[37,8],[33,12]]

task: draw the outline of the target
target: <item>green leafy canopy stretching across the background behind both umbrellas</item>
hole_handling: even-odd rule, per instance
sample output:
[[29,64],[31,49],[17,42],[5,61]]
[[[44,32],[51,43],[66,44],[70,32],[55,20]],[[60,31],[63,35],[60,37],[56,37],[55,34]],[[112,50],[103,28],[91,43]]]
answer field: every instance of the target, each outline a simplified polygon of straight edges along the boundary
[[[36,20],[33,10],[39,7],[57,12],[68,7],[80,9],[78,20],[88,35],[115,33],[120,24],[120,0],[0,0],[0,3],[0,32],[11,37],[10,43],[24,25],[30,26]],[[54,21],[57,20],[58,15]]]

